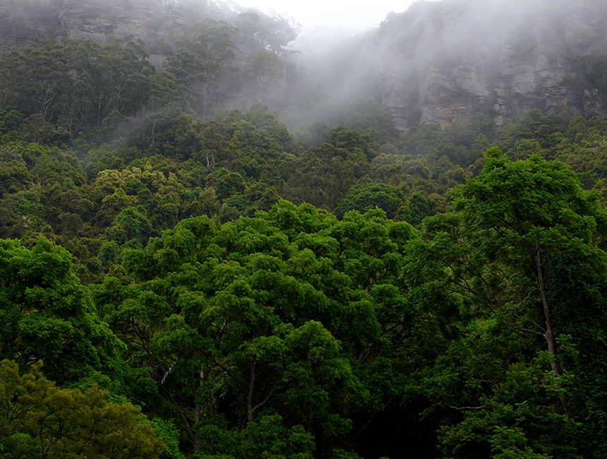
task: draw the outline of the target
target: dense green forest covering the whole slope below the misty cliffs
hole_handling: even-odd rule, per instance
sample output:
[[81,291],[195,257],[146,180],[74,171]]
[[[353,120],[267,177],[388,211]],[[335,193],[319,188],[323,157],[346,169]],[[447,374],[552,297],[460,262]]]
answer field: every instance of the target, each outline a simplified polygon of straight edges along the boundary
[[213,17],[1,56],[0,457],[605,457],[607,121],[222,108],[294,32]]

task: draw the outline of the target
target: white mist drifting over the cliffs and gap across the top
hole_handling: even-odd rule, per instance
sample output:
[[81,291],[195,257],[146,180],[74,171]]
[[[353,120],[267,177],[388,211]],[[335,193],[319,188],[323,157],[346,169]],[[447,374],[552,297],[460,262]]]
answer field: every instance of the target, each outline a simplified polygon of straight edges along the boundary
[[[296,130],[334,124],[352,102],[372,100],[404,132],[430,123],[450,126],[475,114],[503,126],[531,109],[596,117],[607,106],[591,71],[599,71],[607,44],[607,6],[599,0],[415,1],[397,4],[403,11],[375,2],[383,20],[361,32],[349,27],[349,14],[358,11],[351,6],[342,6],[335,23],[330,11],[323,18],[323,8],[306,6],[318,24],[330,25],[303,28],[296,11],[282,14],[262,3],[40,5],[0,3],[3,49],[35,37],[101,45],[142,40],[156,71],[169,71],[185,85],[189,109],[203,118],[260,103]],[[209,46],[224,60],[209,61]],[[184,53],[198,59],[198,67],[179,67],[187,61]]]

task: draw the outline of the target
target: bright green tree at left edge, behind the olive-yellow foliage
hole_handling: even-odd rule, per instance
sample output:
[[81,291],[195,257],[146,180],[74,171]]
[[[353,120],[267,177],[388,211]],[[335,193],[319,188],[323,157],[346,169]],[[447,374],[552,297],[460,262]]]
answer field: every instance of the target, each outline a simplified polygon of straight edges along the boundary
[[121,343],[95,316],[71,255],[44,237],[28,249],[0,240],[0,357],[42,362],[59,383],[111,372]]

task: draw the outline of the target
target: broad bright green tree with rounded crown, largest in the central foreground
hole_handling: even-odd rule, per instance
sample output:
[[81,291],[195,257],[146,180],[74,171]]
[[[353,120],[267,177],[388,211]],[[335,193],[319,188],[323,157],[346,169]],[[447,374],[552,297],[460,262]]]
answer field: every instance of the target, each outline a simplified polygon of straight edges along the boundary
[[402,321],[398,254],[413,234],[379,210],[337,222],[284,201],[221,227],[196,217],[124,251],[133,283],[106,278],[95,297],[193,451],[253,458],[255,439],[257,453],[307,454],[313,439],[332,457],[350,448],[354,413],[385,403],[390,343],[376,314]]

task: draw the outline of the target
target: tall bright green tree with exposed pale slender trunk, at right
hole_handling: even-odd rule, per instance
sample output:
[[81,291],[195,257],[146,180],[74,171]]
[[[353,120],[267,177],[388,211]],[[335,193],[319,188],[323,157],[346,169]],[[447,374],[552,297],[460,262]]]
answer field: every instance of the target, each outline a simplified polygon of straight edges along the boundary
[[600,457],[606,411],[589,394],[604,391],[607,214],[560,162],[485,156],[454,212],[424,222],[407,270],[411,285],[459,295],[472,318],[428,380],[464,415],[446,451]]

